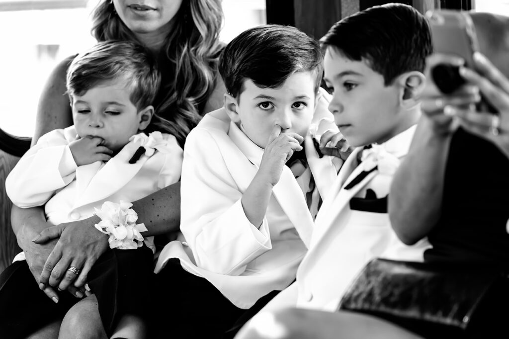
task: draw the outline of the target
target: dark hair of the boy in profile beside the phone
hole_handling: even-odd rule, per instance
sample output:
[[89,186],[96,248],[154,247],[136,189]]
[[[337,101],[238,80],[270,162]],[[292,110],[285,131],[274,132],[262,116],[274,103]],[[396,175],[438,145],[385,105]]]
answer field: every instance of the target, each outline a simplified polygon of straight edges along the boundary
[[424,72],[426,57],[433,52],[428,21],[403,4],[375,6],[346,17],[320,43],[350,60],[366,60],[383,75],[386,86],[405,72]]

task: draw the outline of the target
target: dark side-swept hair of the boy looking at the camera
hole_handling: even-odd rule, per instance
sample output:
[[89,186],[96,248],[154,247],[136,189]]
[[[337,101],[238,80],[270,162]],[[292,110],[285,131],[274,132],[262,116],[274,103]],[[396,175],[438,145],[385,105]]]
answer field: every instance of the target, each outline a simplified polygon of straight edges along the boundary
[[219,57],[219,73],[233,97],[244,80],[259,88],[278,88],[294,72],[316,73],[315,91],[323,76],[323,57],[316,40],[292,26],[260,25],[233,39]]

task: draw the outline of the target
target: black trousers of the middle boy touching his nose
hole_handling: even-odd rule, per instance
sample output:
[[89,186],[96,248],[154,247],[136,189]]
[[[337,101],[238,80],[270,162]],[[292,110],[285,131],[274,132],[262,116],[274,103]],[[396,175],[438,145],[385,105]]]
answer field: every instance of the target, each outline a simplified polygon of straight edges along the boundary
[[279,293],[270,292],[249,309],[238,308],[207,279],[184,270],[178,259],[170,260],[156,281],[154,301],[160,311],[151,326],[157,338],[233,338]]

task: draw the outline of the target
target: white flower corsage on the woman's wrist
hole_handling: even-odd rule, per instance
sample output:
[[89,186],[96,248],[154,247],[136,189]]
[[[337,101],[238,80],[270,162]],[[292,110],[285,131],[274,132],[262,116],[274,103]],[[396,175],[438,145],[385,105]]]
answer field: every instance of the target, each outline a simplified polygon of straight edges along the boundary
[[109,247],[118,249],[136,249],[143,245],[140,232],[147,231],[144,223],[136,224],[138,214],[130,207],[131,203],[120,204],[105,202],[101,209],[94,208],[94,214],[101,218],[95,228],[109,235]]

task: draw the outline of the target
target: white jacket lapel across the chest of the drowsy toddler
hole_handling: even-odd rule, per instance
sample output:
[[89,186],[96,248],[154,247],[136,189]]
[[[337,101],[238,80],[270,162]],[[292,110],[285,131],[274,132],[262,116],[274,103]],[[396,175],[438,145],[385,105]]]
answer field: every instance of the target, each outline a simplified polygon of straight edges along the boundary
[[102,168],[98,169],[95,175],[92,171],[84,174],[90,176],[91,179],[86,188],[78,190],[82,193],[77,197],[73,208],[101,201],[124,187],[139,172],[148,159],[147,156],[142,155],[136,163],[129,163],[129,159],[138,147],[138,144],[131,142],[115,157],[106,162]]

